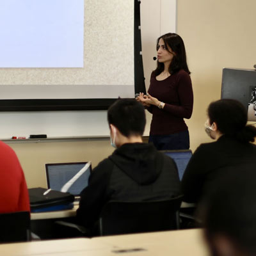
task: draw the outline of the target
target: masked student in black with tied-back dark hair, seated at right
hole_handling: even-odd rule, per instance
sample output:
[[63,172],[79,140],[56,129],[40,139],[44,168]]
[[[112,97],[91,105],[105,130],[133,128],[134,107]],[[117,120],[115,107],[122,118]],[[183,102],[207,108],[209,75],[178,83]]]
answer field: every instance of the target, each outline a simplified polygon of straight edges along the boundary
[[[246,125],[247,112],[237,100],[221,99],[207,109],[205,132],[216,140],[201,144],[191,157],[182,178],[184,201],[196,203],[218,189],[221,180],[245,170],[255,172],[256,128]],[[246,184],[244,184],[246,186]],[[243,189],[243,188],[237,188]]]

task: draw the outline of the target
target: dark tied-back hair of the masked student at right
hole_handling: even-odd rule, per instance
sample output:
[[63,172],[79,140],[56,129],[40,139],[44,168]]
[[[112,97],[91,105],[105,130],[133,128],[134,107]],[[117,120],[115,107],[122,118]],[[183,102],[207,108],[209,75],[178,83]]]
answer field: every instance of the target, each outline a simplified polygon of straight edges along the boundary
[[221,99],[208,107],[210,125],[215,122],[218,130],[225,136],[236,138],[246,143],[254,141],[256,128],[247,123],[247,111],[243,104],[233,99]]

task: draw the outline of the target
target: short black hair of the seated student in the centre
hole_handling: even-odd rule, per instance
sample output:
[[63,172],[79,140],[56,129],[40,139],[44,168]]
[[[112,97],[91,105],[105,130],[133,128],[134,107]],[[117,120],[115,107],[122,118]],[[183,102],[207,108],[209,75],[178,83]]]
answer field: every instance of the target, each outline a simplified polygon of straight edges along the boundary
[[126,137],[142,136],[146,125],[145,109],[135,99],[118,99],[108,109],[108,123]]

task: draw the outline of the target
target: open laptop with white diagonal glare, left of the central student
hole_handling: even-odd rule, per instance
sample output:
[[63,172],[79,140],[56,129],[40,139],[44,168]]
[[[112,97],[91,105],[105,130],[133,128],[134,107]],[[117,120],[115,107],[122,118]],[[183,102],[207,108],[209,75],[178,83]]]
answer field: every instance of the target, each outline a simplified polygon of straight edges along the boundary
[[79,202],[81,191],[88,186],[91,162],[45,164],[47,188],[69,192]]

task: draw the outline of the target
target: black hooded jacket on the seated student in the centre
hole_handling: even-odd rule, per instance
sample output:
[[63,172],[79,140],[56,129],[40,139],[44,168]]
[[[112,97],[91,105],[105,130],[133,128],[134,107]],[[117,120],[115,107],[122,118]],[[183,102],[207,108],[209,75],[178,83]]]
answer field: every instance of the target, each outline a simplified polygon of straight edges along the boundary
[[93,169],[81,192],[77,221],[86,228],[99,220],[110,200],[164,200],[180,195],[174,161],[148,143],[127,143]]

